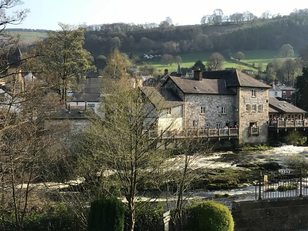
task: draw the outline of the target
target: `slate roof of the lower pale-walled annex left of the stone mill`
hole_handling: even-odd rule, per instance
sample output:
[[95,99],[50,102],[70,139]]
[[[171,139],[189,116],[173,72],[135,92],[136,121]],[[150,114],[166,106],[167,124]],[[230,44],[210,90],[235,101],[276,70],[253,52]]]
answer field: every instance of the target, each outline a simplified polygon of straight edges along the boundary
[[155,100],[155,102],[152,102],[155,106],[159,102],[162,102],[162,99],[164,99],[164,108],[184,104],[184,102],[179,98],[179,96],[176,95],[172,88],[142,87],[141,90],[144,92],[145,95],[149,97],[150,100]]

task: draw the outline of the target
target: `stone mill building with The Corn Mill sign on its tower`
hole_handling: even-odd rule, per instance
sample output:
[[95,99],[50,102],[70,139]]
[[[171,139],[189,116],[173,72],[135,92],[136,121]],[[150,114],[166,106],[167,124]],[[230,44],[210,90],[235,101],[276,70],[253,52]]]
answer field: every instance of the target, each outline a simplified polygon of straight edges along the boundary
[[178,77],[168,77],[161,87],[171,88],[184,102],[183,129],[236,125],[241,142],[267,141],[269,85],[238,70],[196,70],[192,78],[181,75],[179,67]]

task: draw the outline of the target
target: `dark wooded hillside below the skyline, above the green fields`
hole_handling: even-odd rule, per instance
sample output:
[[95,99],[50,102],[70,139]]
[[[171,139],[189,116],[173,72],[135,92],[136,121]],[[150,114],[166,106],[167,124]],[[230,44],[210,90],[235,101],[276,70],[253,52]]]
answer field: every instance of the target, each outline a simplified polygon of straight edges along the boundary
[[[91,26],[90,26],[91,27]],[[125,23],[86,28],[84,47],[93,56],[108,55],[112,48],[134,54],[187,54],[278,50],[291,44],[295,51],[308,41],[308,10],[275,19],[219,22],[202,25],[160,26],[144,29]],[[244,52],[245,53],[245,52]]]

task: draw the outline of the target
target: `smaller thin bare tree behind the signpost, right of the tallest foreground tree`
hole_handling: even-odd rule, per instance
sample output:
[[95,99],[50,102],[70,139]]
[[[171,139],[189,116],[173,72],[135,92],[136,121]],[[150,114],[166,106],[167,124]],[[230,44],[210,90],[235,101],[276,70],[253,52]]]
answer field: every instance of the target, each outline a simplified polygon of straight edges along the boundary
[[[204,139],[198,138],[197,132],[188,128],[183,132],[181,140],[174,152],[179,154],[175,158],[166,161],[164,167],[164,177],[167,183],[172,182],[177,186],[176,190],[167,192],[165,196],[167,198],[167,206],[174,209],[172,215],[172,222],[175,227],[183,231],[183,225],[185,224],[185,209],[184,205],[186,201],[191,198],[194,192],[193,181],[197,176],[205,174],[209,171],[213,162],[204,163],[200,165],[198,161],[204,157],[206,153],[209,153],[213,147]],[[171,201],[168,200],[169,194],[172,197],[176,197],[175,205],[172,206]],[[186,195],[185,195],[186,194]]]

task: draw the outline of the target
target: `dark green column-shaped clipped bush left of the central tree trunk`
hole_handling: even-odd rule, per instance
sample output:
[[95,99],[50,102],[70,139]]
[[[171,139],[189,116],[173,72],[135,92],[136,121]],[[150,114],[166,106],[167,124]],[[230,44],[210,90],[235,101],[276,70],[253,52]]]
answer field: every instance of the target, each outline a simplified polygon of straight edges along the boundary
[[102,197],[91,203],[88,231],[123,231],[124,206],[115,197]]

